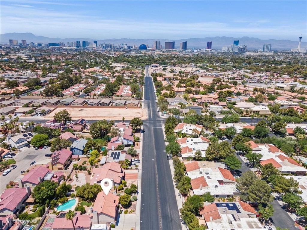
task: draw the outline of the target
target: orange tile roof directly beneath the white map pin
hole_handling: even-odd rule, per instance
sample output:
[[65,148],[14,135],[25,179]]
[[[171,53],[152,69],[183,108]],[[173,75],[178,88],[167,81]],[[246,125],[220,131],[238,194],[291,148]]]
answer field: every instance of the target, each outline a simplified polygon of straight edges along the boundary
[[106,214],[111,217],[116,217],[116,209],[118,205],[119,197],[108,193],[107,195],[102,191],[98,193],[96,201],[93,206],[93,211]]

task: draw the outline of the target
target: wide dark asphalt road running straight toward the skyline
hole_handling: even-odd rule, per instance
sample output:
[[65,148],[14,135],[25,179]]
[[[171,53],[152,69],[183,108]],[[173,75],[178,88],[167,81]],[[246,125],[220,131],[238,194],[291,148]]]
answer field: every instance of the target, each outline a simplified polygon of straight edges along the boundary
[[144,105],[148,120],[144,121],[141,223],[142,230],[181,229],[180,216],[169,162],[165,153],[162,123],[157,113],[152,78],[146,68]]

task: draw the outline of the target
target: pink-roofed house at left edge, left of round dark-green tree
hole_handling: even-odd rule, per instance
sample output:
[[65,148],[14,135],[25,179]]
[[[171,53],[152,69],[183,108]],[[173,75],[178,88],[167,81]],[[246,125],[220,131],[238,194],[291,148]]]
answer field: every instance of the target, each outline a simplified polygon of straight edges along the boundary
[[18,215],[30,195],[30,188],[9,188],[0,195],[0,216]]

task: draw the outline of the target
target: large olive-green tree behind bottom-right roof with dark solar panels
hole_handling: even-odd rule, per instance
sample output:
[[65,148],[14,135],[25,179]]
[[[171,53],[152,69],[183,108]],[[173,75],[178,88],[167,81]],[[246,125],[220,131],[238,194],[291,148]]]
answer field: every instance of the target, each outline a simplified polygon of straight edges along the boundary
[[247,189],[247,201],[269,203],[273,201],[271,187],[263,180],[255,180]]

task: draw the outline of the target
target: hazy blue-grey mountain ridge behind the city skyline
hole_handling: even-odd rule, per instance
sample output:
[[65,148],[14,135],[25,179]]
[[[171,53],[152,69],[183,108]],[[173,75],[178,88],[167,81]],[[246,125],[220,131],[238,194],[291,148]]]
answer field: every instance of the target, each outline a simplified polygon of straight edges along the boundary
[[[239,45],[247,45],[247,49],[262,49],[263,44],[271,44],[272,50],[276,49],[291,49],[297,48],[298,46],[298,38],[297,41],[291,40],[261,40],[259,38],[254,37],[205,37],[205,38],[188,38],[188,39],[180,39],[180,40],[168,40],[168,39],[131,39],[131,38],[120,38],[120,39],[92,39],[92,38],[49,38],[45,36],[35,36],[33,33],[5,33],[0,34],[0,43],[5,44],[9,42],[9,39],[17,39],[18,43],[21,43],[21,40],[27,40],[27,43],[59,43],[64,42],[74,42],[74,41],[89,41],[93,42],[97,40],[98,44],[101,43],[112,43],[112,44],[128,44],[128,45],[141,45],[148,44],[150,47],[153,46],[153,41],[160,41],[161,45],[164,47],[164,42],[175,41],[175,48],[179,48],[179,44],[182,41],[188,42],[188,48],[205,48],[207,46],[207,41],[212,41],[213,49],[221,49],[223,46],[230,46],[233,44],[233,40],[239,40]],[[307,42],[301,42],[301,48],[306,48]]]

